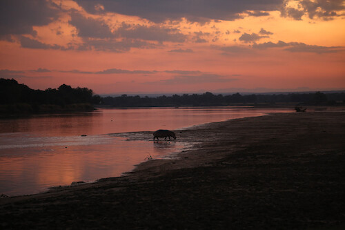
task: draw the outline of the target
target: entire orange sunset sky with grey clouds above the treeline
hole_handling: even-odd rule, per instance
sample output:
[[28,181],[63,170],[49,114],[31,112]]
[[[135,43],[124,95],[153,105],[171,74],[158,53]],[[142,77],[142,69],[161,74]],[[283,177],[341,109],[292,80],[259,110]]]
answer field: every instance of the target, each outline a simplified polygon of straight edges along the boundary
[[343,0],[1,0],[0,77],[97,94],[345,90]]

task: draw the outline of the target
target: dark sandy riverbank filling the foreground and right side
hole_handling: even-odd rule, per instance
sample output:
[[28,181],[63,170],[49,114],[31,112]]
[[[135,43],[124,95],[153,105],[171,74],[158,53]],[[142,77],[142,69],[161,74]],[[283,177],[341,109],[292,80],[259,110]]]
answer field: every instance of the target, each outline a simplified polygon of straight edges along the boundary
[[0,229],[345,229],[344,112],[235,119],[177,137],[200,143],[121,178],[1,198]]

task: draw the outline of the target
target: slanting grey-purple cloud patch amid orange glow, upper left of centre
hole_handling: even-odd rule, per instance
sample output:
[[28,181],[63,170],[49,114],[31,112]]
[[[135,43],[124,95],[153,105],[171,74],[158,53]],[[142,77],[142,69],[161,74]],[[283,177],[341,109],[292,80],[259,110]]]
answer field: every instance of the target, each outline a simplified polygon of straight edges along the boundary
[[83,17],[77,12],[71,13],[71,19],[68,21],[78,30],[80,37],[92,38],[109,38],[114,37],[109,26],[100,19],[92,19],[91,17]]

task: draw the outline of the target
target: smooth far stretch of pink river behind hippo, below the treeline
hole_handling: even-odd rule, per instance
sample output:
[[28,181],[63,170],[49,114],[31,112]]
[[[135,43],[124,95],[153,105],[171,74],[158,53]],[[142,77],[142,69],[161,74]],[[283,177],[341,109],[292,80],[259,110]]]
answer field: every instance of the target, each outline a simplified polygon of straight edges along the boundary
[[30,133],[39,136],[99,135],[135,131],[176,129],[226,119],[288,109],[257,108],[128,108],[103,109],[89,113],[34,115],[23,119],[0,119],[0,133]]

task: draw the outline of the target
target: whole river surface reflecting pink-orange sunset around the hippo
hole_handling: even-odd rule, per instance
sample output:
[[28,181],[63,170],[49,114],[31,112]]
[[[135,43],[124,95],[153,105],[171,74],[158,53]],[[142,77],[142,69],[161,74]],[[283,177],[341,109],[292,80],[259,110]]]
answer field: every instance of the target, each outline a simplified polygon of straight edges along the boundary
[[128,108],[0,119],[0,194],[39,193],[51,186],[117,177],[148,155],[166,158],[190,147],[183,141],[153,142],[152,134],[147,140],[128,141],[112,133],[175,130],[290,112],[284,108]]

